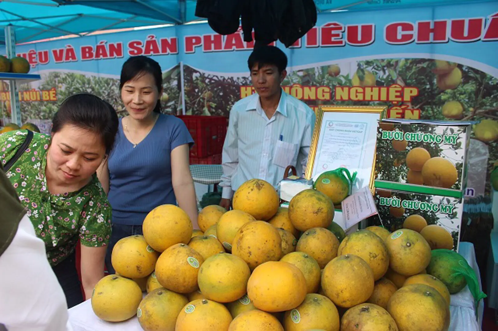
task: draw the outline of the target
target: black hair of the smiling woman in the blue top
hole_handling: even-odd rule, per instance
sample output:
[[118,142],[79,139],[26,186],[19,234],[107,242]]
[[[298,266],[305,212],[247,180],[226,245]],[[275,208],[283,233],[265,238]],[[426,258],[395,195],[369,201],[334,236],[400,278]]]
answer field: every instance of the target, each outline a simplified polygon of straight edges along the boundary
[[[156,61],[143,55],[132,56],[126,60],[121,68],[120,91],[126,82],[138,78],[144,74],[151,74],[157,87],[157,92],[162,90],[161,66]],[[161,102],[157,100],[154,112],[161,113]]]

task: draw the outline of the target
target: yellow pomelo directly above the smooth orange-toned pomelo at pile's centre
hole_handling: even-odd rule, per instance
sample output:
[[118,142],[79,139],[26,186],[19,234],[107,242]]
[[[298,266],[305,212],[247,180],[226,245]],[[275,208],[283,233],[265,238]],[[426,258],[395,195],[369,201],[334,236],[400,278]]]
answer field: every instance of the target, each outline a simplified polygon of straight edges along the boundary
[[278,261],[282,256],[282,239],[278,230],[265,221],[244,224],[234,237],[232,253],[253,270],[261,263]]

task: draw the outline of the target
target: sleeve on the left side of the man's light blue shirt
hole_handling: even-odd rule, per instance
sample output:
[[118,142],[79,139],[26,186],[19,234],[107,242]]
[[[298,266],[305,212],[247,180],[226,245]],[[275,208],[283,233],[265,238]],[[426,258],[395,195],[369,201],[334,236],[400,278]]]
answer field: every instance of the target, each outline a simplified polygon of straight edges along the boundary
[[232,190],[232,176],[239,164],[239,135],[238,135],[238,112],[232,110],[228,121],[227,136],[223,144],[222,168],[223,175],[219,186],[222,188],[222,198],[232,199],[234,191]]

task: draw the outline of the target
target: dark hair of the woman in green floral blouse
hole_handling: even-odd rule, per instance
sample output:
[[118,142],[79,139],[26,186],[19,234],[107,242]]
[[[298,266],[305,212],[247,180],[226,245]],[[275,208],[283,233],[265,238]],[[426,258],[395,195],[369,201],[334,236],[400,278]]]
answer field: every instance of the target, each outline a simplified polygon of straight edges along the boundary
[[99,133],[106,146],[106,155],[111,153],[118,132],[119,119],[116,110],[108,102],[93,94],[75,94],[62,102],[52,119],[52,132],[64,125],[75,125]]

